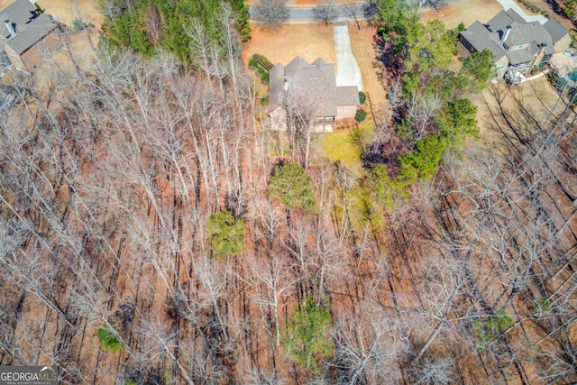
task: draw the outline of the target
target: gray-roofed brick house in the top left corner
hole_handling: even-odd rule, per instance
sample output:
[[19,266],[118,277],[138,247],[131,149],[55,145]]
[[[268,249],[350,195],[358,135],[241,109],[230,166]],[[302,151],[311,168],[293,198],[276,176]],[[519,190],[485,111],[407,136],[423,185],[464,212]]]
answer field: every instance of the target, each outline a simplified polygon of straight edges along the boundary
[[56,23],[33,0],[16,0],[0,11],[0,49],[15,69],[32,73],[60,44]]

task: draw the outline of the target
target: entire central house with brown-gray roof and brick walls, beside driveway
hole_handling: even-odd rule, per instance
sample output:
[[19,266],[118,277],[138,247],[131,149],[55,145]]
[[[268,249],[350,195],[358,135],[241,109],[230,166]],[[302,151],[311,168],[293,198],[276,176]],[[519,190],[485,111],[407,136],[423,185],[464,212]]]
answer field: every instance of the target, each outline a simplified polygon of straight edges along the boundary
[[334,64],[318,58],[308,64],[301,57],[281,63],[269,74],[269,123],[273,130],[287,129],[287,110],[310,120],[316,132],[332,132],[334,122],[353,118],[359,105],[356,86],[336,87]]

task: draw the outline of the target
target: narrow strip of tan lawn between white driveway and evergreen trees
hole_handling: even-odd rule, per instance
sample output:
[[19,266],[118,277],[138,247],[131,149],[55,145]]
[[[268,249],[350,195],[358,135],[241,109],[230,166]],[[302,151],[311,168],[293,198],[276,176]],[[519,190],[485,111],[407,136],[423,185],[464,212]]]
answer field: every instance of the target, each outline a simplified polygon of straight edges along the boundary
[[363,27],[361,31],[354,25],[349,24],[349,35],[351,36],[351,46],[354,56],[359,63],[362,73],[362,86],[365,93],[371,98],[373,106],[380,105],[386,100],[387,94],[383,87],[384,79],[381,81],[377,72],[378,61],[377,52],[373,47],[373,35],[375,31],[371,27]]

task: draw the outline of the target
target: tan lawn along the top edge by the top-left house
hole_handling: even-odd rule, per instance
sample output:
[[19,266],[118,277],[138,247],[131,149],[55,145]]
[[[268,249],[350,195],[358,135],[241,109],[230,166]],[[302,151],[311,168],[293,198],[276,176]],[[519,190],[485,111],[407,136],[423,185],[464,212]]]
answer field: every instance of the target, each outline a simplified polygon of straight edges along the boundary
[[[14,3],[14,0],[0,0],[0,9]],[[93,23],[100,29],[104,18],[98,11],[96,0],[38,0],[37,4],[56,17],[60,23],[72,25],[79,18],[85,23]]]

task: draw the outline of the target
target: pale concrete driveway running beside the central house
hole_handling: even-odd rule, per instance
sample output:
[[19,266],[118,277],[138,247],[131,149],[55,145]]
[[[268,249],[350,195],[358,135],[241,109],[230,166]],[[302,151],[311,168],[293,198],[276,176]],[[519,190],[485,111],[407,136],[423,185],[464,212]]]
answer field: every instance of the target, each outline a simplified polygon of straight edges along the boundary
[[336,86],[356,86],[362,91],[362,76],[359,63],[351,50],[349,28],[334,25],[334,50],[336,51]]

